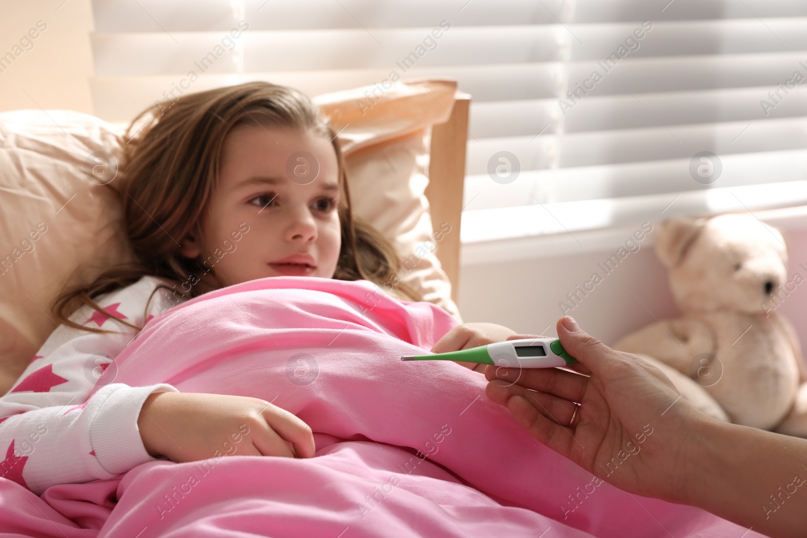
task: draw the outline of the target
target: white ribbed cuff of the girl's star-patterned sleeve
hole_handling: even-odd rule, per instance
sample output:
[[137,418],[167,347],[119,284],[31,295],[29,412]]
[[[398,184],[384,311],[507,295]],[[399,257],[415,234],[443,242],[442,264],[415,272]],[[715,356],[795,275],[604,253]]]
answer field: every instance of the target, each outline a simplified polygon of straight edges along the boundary
[[155,392],[178,390],[165,383],[152,386],[115,383],[103,387],[90,398],[90,402],[98,399],[93,402],[97,411],[90,424],[90,444],[98,463],[107,472],[125,473],[137,465],[154,461],[155,458],[148,455],[143,445],[137,419],[143,402]]

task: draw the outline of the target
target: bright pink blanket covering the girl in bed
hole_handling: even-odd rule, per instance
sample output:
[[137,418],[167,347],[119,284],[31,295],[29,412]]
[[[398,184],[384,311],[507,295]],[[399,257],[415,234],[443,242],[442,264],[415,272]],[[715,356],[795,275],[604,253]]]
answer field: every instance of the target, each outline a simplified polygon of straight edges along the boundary
[[369,282],[310,277],[175,307],[118,357],[115,382],[266,399],[312,427],[316,457],[238,456],[222,440],[235,456],[152,462],[41,498],[0,479],[0,536],[759,536],[594,489],[487,400],[481,374],[399,360],[454,324]]

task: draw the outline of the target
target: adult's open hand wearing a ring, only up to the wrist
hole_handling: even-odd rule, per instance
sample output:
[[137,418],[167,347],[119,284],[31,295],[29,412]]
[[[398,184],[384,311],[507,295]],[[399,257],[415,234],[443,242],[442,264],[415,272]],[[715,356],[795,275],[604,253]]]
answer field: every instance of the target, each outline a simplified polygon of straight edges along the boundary
[[574,319],[558,321],[558,336],[579,361],[570,368],[583,375],[488,366],[487,397],[535,439],[605,482],[682,502],[692,486],[688,462],[703,457],[705,415],[679,399],[661,370],[608,348]]

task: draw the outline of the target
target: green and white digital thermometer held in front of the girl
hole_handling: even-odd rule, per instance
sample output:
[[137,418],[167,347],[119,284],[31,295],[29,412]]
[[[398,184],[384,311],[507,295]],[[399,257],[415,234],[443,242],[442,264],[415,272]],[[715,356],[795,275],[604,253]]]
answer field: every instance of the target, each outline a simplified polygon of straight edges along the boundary
[[574,365],[577,359],[563,349],[557,338],[525,338],[446,353],[409,355],[401,357],[401,361],[461,361],[505,368],[552,368]]

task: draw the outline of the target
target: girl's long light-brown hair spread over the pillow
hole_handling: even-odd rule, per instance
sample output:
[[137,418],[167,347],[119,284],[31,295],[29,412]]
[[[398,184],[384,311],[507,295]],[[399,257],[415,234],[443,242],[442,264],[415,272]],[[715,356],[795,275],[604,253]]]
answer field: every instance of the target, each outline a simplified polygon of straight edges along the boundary
[[[378,286],[386,284],[384,287],[388,288],[400,269],[400,261],[389,241],[350,211],[345,162],[336,132],[301,92],[268,82],[249,82],[157,102],[132,121],[124,135],[129,142],[123,144],[115,187],[123,203],[126,235],[136,260],[103,271],[88,286],[63,290],[52,305],[60,323],[91,332],[107,332],[74,323],[69,316],[83,305],[102,312],[94,298],[129,286],[145,275],[178,285],[200,272],[199,261],[182,256],[178,242],[202,221],[215,193],[224,139],[242,123],[310,130],[331,140],[337,154],[343,200],[337,210],[341,251],[333,277],[348,281],[365,279]],[[398,280],[395,278],[393,290],[399,298],[422,300],[416,290]],[[192,298],[220,287],[213,269],[189,292],[171,291]]]

